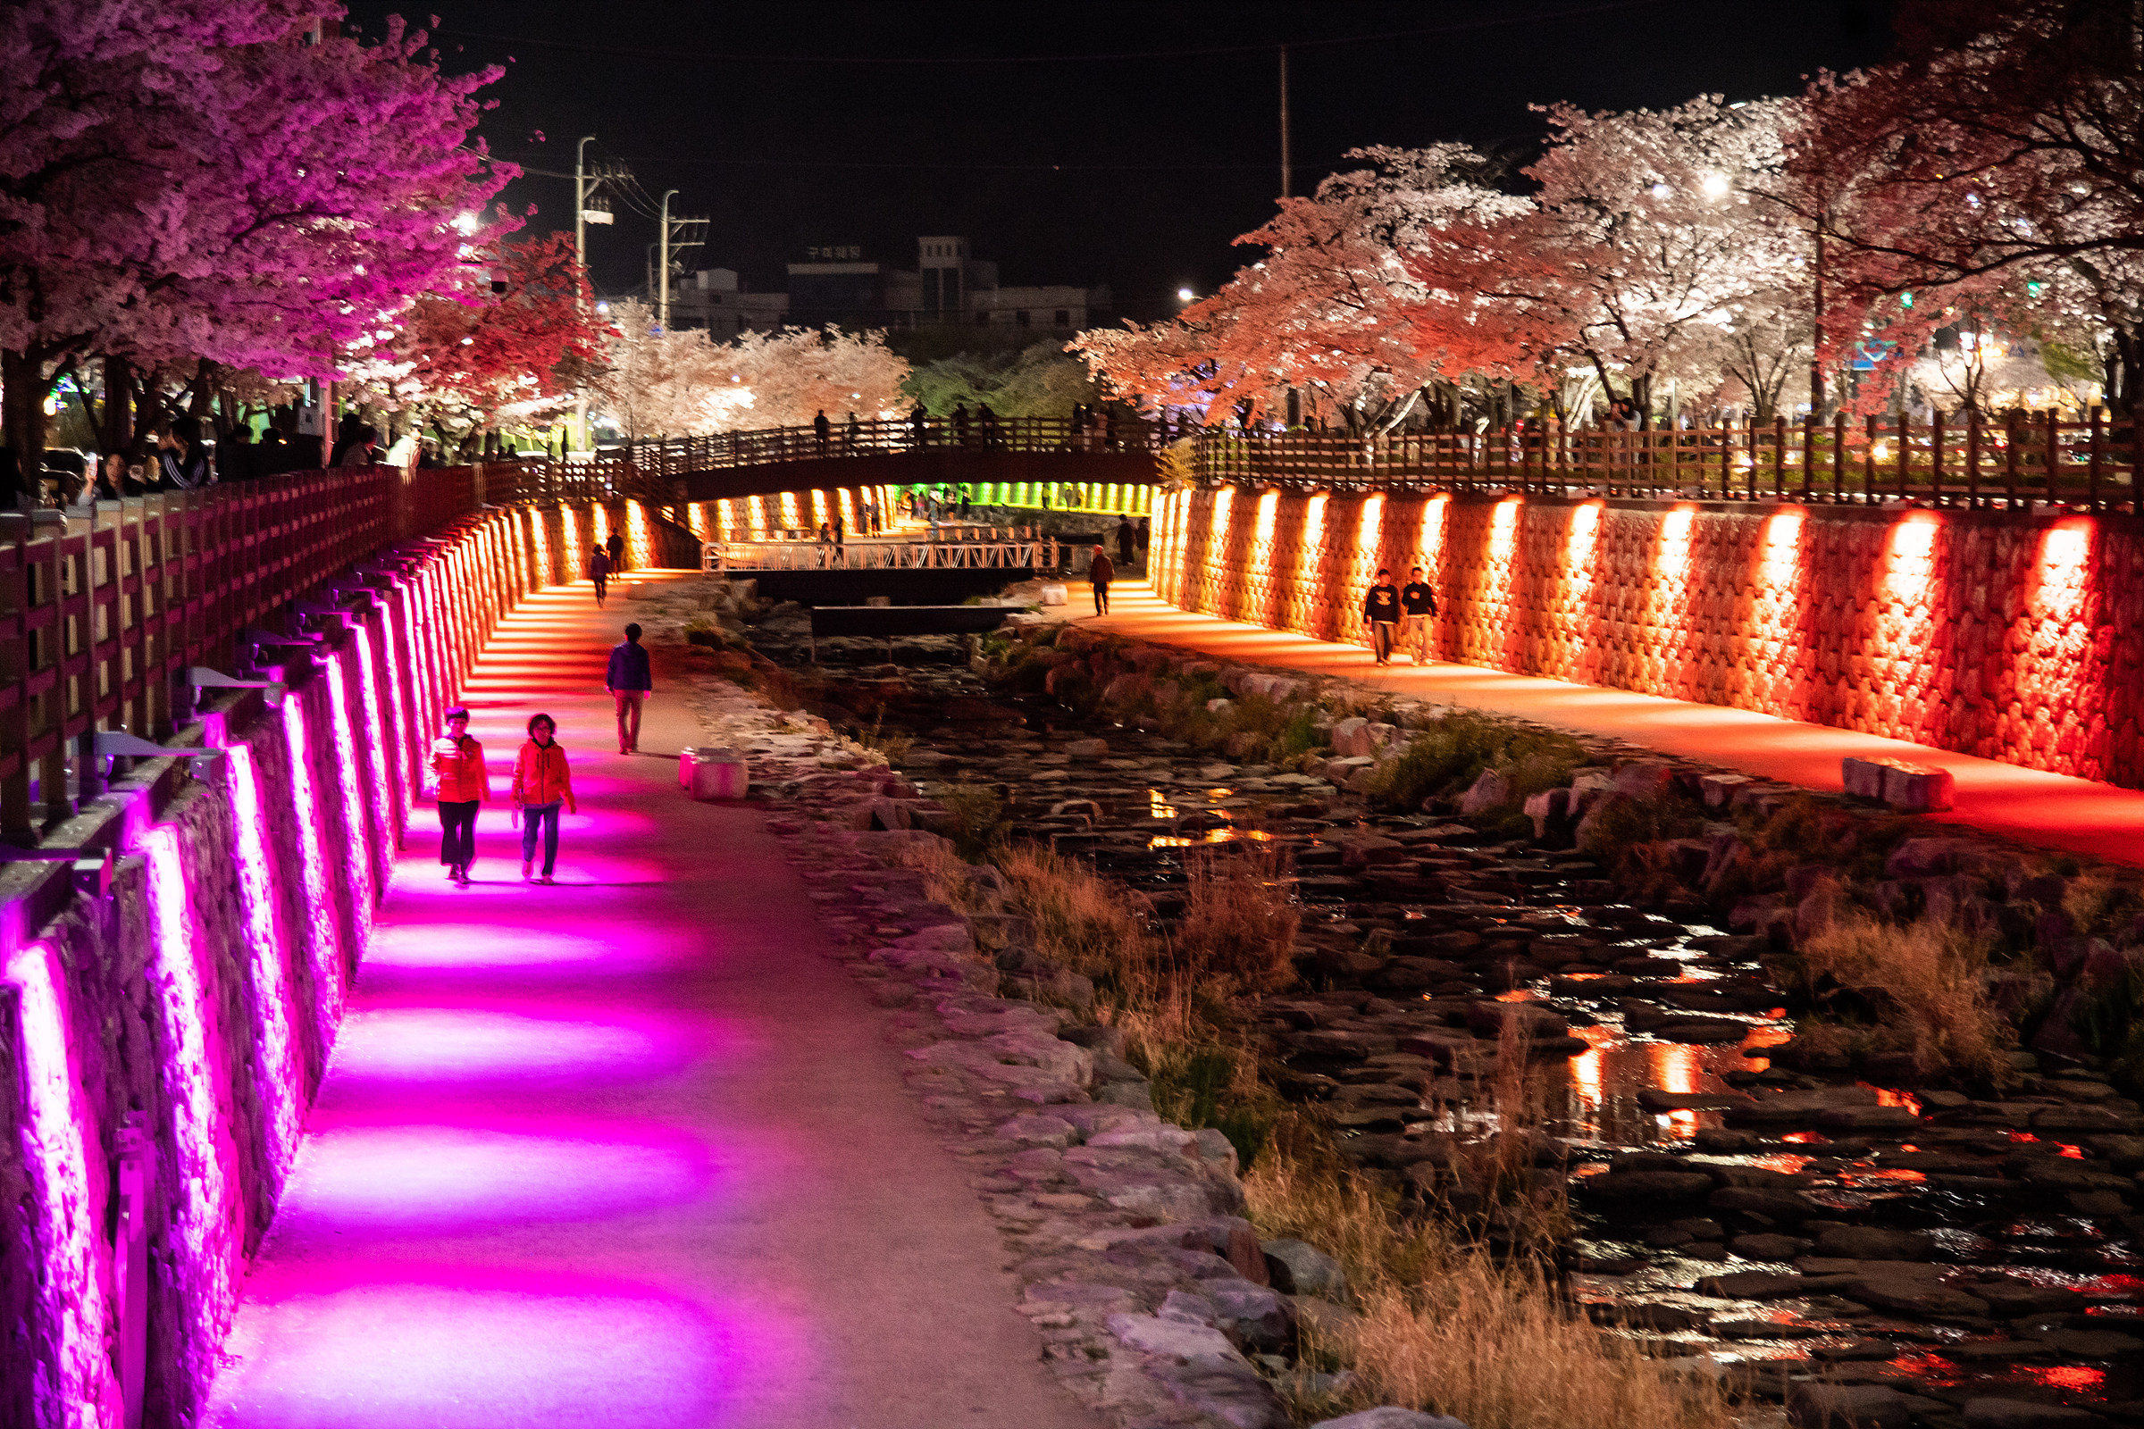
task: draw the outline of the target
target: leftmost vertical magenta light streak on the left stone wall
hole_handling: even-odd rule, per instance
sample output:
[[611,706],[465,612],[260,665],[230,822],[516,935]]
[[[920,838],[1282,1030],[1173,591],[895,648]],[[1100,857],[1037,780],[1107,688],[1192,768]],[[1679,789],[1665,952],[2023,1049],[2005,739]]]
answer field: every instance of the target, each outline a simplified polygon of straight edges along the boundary
[[84,1103],[66,1037],[66,973],[49,943],[6,960],[6,981],[21,1013],[24,1163],[30,1172],[45,1245],[43,1300],[58,1333],[60,1399],[69,1429],[118,1423],[118,1382],[99,1333],[109,1251],[90,1198],[84,1138],[96,1120]]

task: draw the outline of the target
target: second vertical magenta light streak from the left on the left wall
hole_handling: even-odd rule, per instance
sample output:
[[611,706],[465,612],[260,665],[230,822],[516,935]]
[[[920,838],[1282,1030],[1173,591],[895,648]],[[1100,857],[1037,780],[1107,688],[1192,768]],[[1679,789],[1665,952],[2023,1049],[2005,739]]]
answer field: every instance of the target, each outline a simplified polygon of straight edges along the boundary
[[[180,1279],[195,1343],[221,1337],[244,1275],[238,1208],[238,1146],[214,1084],[221,1048],[210,1046],[212,1005],[202,983],[202,947],[178,848],[178,829],[142,836],[148,863],[150,986],[163,1022],[163,1075],[172,1099],[172,1144],[184,1187],[174,1215],[184,1245]],[[221,1028],[219,1028],[221,1033]]]

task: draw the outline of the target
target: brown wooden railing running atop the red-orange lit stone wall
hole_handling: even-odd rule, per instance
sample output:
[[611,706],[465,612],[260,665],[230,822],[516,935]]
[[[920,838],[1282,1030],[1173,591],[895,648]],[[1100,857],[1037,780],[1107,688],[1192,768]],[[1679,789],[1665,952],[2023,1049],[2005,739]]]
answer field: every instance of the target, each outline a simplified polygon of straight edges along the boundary
[[1203,482],[1336,491],[1522,491],[1539,495],[1925,501],[2033,510],[2138,510],[2138,433],[2101,416],[2002,420],[1840,416],[1829,424],[1569,431],[1557,422],[1484,433],[1201,435]]

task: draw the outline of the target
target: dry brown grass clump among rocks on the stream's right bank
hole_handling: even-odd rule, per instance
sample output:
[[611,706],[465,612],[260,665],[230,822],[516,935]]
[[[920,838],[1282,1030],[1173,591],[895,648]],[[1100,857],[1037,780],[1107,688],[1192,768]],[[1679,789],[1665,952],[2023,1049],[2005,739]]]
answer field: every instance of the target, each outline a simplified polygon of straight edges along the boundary
[[1910,1052],[1923,1073],[1990,1080],[2009,1073],[2007,1052],[2015,1035],[1981,981],[1987,947],[1955,928],[1882,923],[1842,908],[1829,928],[1801,945],[1797,960],[1803,990],[1814,996],[1820,996],[1825,979],[1872,990],[1887,1007],[1878,1020],[1882,1041]]

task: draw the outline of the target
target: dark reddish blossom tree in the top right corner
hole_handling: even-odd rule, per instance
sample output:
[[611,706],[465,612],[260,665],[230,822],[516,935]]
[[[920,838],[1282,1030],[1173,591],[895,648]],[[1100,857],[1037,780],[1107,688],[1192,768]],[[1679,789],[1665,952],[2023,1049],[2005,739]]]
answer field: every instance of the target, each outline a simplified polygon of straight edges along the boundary
[[[2144,17],[2127,0],[1906,0],[1900,60],[1827,75],[1790,174],[1831,240],[1827,351],[1917,358],[1990,306],[2097,351],[2144,409]],[[1919,341],[1915,341],[1919,339]]]

